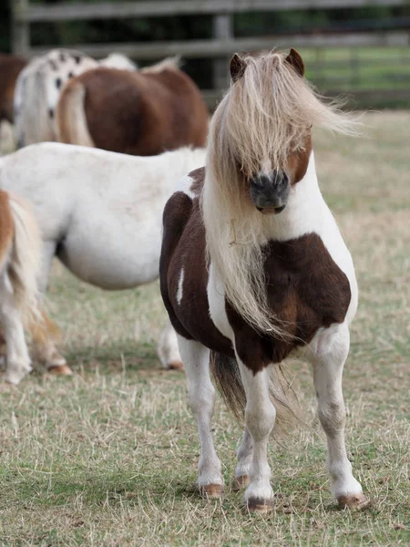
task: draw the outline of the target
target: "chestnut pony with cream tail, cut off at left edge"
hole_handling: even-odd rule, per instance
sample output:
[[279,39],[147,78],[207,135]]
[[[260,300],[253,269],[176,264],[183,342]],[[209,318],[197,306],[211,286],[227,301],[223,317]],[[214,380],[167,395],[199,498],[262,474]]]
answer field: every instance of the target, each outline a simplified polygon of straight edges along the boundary
[[18,382],[31,371],[24,325],[40,321],[36,278],[41,238],[26,205],[0,191],[0,323],[6,342],[4,379]]

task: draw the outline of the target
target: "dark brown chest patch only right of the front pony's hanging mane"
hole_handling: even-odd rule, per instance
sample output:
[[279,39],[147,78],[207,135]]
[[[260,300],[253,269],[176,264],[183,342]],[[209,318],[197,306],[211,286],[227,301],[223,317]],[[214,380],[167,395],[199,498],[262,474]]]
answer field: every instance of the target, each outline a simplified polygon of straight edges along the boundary
[[318,328],[343,322],[350,284],[319,235],[269,243],[264,267],[272,313],[293,335],[309,342]]

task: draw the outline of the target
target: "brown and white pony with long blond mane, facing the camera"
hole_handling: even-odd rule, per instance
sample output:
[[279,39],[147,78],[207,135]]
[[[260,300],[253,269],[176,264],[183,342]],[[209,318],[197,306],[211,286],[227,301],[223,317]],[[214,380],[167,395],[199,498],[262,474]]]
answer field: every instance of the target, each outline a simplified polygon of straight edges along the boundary
[[367,503],[344,444],[354,265],[319,190],[311,140],[313,125],[349,134],[354,122],[326,106],[303,73],[294,49],[287,57],[232,57],[206,168],[185,178],[163,216],[160,286],[198,422],[200,490],[220,496],[223,489],[211,366],[231,408],[244,410],[235,476],[249,482],[251,511],[272,507],[267,444],[289,398],[277,383],[270,388],[270,375],[296,351],[313,363],[333,496],[341,506]]

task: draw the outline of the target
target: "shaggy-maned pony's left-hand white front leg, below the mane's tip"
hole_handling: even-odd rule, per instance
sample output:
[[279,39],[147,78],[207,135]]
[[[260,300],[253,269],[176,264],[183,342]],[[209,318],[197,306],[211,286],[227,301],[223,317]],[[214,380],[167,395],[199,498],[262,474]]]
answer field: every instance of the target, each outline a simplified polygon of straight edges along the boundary
[[253,374],[240,359],[238,363],[246,393],[245,424],[251,435],[252,447],[250,484],[245,492],[245,501],[250,511],[268,512],[272,509],[274,497],[268,464],[268,440],[276,417],[269,397],[270,367]]

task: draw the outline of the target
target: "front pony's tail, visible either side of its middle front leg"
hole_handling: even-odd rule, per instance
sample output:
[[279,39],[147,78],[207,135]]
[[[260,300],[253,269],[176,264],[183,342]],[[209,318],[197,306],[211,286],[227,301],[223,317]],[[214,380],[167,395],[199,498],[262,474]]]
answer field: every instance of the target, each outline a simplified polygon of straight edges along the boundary
[[[211,351],[210,370],[220,395],[243,427],[246,395],[237,360],[234,357]],[[285,377],[281,365],[272,366],[269,393],[272,404],[276,409],[275,426],[272,434],[273,437],[280,438],[289,434],[296,422],[303,421],[298,414],[297,397],[291,383]]]

